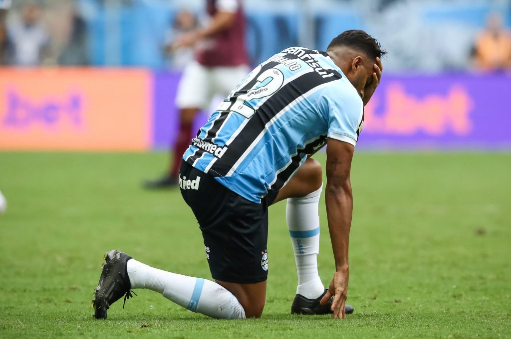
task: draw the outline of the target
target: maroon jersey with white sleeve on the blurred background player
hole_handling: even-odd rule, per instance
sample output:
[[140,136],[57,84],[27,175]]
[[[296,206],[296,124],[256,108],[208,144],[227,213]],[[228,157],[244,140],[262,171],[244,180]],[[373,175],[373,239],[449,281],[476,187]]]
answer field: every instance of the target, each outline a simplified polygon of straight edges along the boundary
[[239,66],[248,64],[245,50],[245,15],[239,0],[206,0],[207,14],[235,11],[233,23],[208,38],[198,49],[197,61],[206,67]]

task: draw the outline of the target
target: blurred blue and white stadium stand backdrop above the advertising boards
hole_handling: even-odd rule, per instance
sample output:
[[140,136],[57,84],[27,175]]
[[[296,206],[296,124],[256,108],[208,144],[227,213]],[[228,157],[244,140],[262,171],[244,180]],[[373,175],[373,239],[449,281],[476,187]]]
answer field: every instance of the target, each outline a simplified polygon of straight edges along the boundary
[[[16,1],[13,10],[24,2]],[[42,3],[45,21],[57,41],[69,29],[62,18],[72,15],[75,3],[86,23],[91,65],[150,68],[166,65],[162,44],[176,13],[182,9],[201,13],[203,4],[200,0]],[[507,0],[246,0],[244,4],[253,64],[290,45],[324,49],[337,33],[362,29],[377,36],[390,51],[386,71],[465,70],[470,66],[474,37],[487,15],[499,12],[504,24],[511,26]]]

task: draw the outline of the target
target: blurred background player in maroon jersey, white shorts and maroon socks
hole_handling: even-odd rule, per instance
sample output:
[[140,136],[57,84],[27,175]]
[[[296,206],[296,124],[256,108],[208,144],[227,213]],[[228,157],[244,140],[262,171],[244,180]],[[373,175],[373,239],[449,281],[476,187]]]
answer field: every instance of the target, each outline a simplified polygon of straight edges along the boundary
[[210,18],[205,28],[181,34],[173,48],[195,46],[195,60],[185,67],[177,90],[179,130],[174,157],[167,173],[147,180],[145,187],[158,189],[175,186],[181,155],[190,145],[197,113],[207,109],[215,94],[226,96],[248,73],[245,49],[245,16],[240,0],[207,0]]

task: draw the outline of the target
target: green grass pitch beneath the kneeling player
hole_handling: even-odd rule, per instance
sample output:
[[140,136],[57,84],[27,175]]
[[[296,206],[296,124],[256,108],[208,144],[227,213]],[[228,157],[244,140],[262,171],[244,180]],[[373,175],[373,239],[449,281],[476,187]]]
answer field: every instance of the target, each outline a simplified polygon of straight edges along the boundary
[[[151,291],[92,317],[103,254],[210,278],[202,238],[179,191],[141,178],[167,155],[0,153],[0,337],[509,337],[510,154],[356,154],[345,321],[289,314],[296,287],[285,203],[270,209],[262,319],[206,318]],[[324,155],[318,159],[324,162]],[[207,203],[207,202],[204,202]],[[320,275],[333,274],[320,205]]]

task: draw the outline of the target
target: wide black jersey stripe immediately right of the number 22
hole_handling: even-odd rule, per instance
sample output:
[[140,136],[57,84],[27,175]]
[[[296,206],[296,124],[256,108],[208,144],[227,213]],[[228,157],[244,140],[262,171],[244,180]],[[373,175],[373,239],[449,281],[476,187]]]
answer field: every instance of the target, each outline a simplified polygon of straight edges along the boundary
[[214,176],[225,176],[236,164],[245,150],[263,132],[265,125],[286,106],[313,88],[340,79],[341,74],[323,78],[316,72],[308,72],[284,85],[273,93],[250,118],[240,134],[230,143],[229,148],[212,166],[210,173]]

